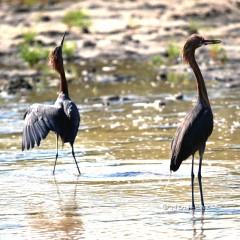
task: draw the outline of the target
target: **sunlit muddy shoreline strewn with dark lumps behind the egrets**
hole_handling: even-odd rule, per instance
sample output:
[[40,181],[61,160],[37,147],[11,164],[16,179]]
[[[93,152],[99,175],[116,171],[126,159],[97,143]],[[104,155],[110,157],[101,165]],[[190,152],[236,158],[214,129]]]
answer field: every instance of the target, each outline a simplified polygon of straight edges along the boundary
[[[88,14],[91,21],[88,27],[63,23],[63,16],[74,9],[84,9]],[[42,57],[37,66],[30,66],[20,56],[24,33],[28,31],[34,31],[36,35],[30,44],[38,44],[45,50],[53,48],[67,31],[67,41],[74,43],[76,48],[70,57],[65,56],[66,62],[86,66],[95,61],[111,66],[113,61],[124,64],[125,60],[132,59],[144,65],[155,56],[167,59],[169,43],[180,48],[191,33],[197,32],[208,38],[221,39],[226,55],[223,63],[218,56],[212,58],[208,49],[201,50],[198,61],[205,77],[217,80],[224,87],[239,87],[239,15],[240,2],[230,0],[221,3],[186,0],[151,3],[146,0],[113,3],[103,0],[46,1],[32,6],[2,2],[0,28],[5,34],[0,36],[0,91],[15,94],[18,90],[32,90],[34,82],[46,78],[41,65],[46,65],[47,58]],[[180,55],[170,63],[155,65],[154,69],[157,78],[164,77],[169,70],[187,72]],[[98,71],[91,69],[85,75],[89,74],[95,74],[94,79],[99,79]],[[47,77],[50,78],[51,75]],[[112,81],[116,78],[113,77]]]

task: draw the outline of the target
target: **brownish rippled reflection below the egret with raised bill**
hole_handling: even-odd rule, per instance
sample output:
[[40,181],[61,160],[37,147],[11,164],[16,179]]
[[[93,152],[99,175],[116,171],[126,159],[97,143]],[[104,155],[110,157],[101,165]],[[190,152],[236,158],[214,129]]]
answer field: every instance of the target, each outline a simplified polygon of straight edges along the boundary
[[72,239],[83,234],[84,224],[76,200],[78,183],[78,178],[74,184],[73,181],[60,183],[54,178],[57,199],[45,199],[34,206],[34,214],[28,214],[31,227],[42,233],[42,239],[56,235]]

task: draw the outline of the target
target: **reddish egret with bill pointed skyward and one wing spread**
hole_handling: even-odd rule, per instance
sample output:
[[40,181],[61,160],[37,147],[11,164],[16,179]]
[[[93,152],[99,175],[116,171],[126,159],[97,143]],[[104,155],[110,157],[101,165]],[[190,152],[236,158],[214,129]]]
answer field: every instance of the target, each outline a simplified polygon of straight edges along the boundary
[[77,136],[80,115],[75,103],[68,94],[68,84],[65,77],[65,71],[62,58],[62,47],[66,33],[64,33],[60,46],[57,46],[49,55],[49,64],[60,75],[60,92],[54,105],[33,104],[24,115],[24,128],[22,136],[22,150],[28,150],[35,145],[39,146],[42,139],[46,138],[49,131],[56,133],[56,158],[53,168],[58,158],[58,138],[60,136],[62,143],[70,143],[72,156],[80,170],[74,153],[74,141]]

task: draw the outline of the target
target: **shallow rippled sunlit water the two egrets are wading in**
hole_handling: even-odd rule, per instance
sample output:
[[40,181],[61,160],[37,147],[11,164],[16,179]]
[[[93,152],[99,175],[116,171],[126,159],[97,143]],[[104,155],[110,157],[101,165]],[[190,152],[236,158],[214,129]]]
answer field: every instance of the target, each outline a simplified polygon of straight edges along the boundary
[[[52,176],[54,134],[40,148],[20,150],[24,111],[32,102],[51,102],[55,87],[0,100],[0,239],[237,239],[240,89],[207,82],[215,128],[202,170],[206,210],[196,180],[193,212],[191,160],[170,174],[169,152],[195,84],[156,81],[154,70],[127,66],[116,71],[132,80],[70,85],[82,117],[75,142],[81,176],[68,145]],[[182,89],[183,100],[175,100]]]

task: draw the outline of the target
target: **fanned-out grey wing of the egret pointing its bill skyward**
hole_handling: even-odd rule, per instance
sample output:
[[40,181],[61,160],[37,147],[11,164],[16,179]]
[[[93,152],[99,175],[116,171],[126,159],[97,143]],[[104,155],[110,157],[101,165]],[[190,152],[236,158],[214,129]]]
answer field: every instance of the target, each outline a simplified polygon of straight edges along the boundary
[[54,105],[33,104],[24,115],[22,150],[39,146],[49,131],[60,132],[63,110]]

